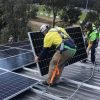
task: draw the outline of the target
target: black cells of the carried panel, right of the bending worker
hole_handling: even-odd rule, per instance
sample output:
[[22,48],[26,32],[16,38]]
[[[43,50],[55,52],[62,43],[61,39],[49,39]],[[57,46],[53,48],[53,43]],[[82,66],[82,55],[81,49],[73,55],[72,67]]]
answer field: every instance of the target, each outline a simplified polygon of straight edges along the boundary
[[72,59],[70,59],[68,62],[66,62],[66,65],[73,64],[77,61],[87,58],[87,53],[85,49],[81,28],[80,27],[67,28],[66,31],[69,33],[71,38],[74,39],[74,42],[77,46],[77,51],[75,56]]

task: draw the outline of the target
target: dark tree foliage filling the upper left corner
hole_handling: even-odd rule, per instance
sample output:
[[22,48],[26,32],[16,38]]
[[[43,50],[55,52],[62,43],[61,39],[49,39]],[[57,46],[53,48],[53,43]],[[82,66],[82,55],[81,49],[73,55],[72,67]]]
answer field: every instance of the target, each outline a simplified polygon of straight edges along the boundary
[[[13,35],[14,41],[23,40],[29,31],[29,18],[36,16],[37,7],[32,0],[0,0],[0,30],[2,41]],[[1,42],[2,42],[1,41]]]

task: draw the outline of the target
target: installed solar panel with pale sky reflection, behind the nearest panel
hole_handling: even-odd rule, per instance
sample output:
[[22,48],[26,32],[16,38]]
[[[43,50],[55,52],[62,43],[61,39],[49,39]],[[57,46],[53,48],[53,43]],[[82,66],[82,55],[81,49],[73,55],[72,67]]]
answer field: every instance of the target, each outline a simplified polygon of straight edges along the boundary
[[27,52],[13,57],[0,59],[0,68],[13,71],[33,62],[33,53]]

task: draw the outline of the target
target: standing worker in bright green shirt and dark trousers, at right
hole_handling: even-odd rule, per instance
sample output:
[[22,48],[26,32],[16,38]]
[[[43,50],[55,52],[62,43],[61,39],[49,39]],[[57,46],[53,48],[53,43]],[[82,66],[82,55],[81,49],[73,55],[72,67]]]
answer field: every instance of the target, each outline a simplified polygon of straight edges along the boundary
[[92,27],[91,22],[87,22],[85,25],[86,30],[86,52],[87,55],[89,55],[89,51],[91,50],[91,62],[95,64],[95,48],[97,47],[97,31],[95,31]]

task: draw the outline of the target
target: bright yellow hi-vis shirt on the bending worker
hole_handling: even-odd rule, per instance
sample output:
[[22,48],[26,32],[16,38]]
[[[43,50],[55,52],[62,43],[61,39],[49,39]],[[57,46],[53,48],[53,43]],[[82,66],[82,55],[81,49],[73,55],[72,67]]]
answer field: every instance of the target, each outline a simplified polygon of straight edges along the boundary
[[[57,28],[59,28],[64,33],[64,38],[69,37],[69,35],[63,28],[60,27]],[[58,29],[52,28],[48,31],[48,33],[44,37],[44,48],[51,47],[52,45],[58,47],[61,44],[61,42],[62,42],[62,37],[58,33]]]

